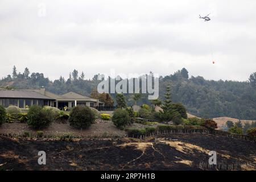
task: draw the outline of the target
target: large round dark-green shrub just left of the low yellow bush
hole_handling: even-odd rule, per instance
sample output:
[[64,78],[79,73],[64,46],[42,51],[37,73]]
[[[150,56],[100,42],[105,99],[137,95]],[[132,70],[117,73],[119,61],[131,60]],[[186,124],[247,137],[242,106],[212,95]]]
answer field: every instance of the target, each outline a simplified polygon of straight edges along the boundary
[[72,108],[68,121],[76,129],[86,129],[95,121],[95,115],[88,106],[76,106]]

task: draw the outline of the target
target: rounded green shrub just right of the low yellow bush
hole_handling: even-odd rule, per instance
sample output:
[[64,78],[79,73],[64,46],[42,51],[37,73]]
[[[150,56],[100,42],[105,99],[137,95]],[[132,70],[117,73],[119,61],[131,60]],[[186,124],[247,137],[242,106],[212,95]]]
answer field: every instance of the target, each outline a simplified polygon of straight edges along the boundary
[[122,127],[130,124],[131,118],[125,109],[118,108],[113,112],[112,121],[115,126],[122,129]]

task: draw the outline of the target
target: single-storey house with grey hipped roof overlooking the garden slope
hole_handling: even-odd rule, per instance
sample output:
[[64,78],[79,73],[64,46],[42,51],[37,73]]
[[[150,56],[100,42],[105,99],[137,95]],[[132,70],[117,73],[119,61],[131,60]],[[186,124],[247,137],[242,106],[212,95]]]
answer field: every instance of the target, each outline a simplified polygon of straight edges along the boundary
[[76,105],[89,107],[104,106],[104,102],[97,99],[82,96],[75,92],[68,92],[63,95],[48,92],[45,88],[40,89],[0,89],[0,105],[9,105],[25,108],[26,106],[53,106],[63,109],[67,106],[71,109]]

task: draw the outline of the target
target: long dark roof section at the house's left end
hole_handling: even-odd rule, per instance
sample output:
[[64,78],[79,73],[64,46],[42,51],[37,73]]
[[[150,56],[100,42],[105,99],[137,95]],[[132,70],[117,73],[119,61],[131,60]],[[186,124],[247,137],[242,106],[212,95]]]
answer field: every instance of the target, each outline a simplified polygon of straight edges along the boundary
[[32,98],[55,100],[32,90],[7,90],[0,89],[0,98]]

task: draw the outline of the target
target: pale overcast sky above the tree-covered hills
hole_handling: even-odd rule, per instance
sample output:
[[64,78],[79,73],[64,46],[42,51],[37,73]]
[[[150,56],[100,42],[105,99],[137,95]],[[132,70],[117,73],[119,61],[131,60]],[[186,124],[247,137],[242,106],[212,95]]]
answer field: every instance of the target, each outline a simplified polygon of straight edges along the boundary
[[[255,9],[255,0],[1,0],[0,77],[13,65],[50,80],[73,69],[88,78],[185,67],[193,76],[245,81],[256,71]],[[199,19],[208,13],[210,22]]]

